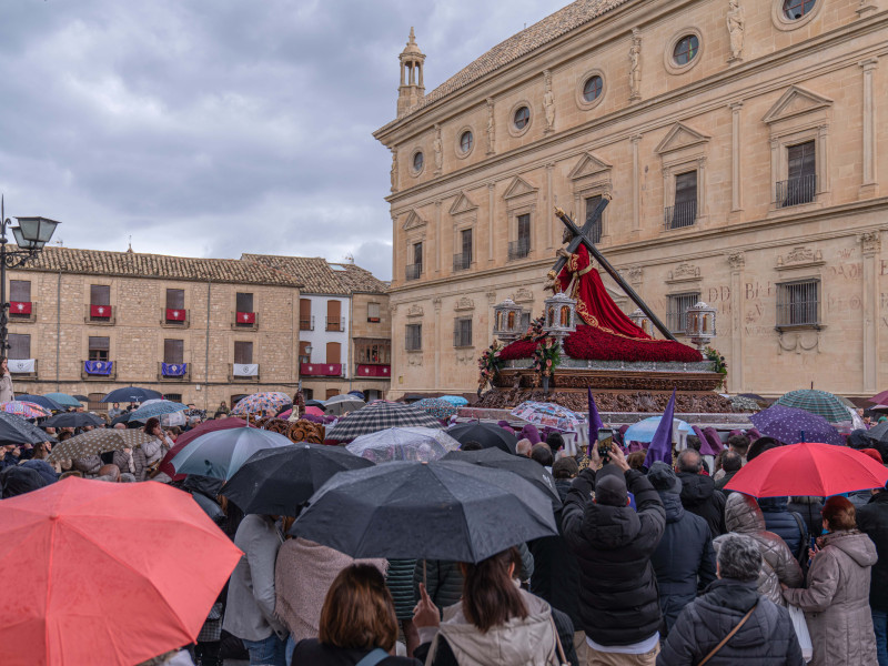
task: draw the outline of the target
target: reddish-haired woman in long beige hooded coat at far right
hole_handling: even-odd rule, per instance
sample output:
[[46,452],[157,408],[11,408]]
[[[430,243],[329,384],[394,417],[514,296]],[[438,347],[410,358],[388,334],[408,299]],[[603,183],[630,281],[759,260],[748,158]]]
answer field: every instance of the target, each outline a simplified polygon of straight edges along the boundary
[[805,612],[811,635],[811,666],[872,666],[878,663],[869,609],[870,569],[878,556],[872,541],[857,529],[855,508],[845,497],[824,505],[824,529],[810,551],[808,586],[784,598]]

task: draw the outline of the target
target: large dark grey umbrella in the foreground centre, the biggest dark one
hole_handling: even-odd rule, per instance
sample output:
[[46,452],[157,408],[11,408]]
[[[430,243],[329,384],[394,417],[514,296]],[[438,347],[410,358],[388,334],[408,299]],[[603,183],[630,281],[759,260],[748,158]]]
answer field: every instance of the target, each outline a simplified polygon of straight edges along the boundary
[[521,476],[435,461],[341,472],[292,532],[355,558],[477,563],[557,528],[551,496]]

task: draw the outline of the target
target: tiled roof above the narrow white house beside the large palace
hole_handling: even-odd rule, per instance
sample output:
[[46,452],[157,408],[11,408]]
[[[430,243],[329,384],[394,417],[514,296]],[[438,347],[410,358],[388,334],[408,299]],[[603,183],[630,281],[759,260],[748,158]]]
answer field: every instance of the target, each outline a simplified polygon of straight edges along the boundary
[[[321,256],[279,256],[275,254],[243,254],[241,260],[270,266],[303,285],[307,294],[384,293],[387,285],[354,264],[330,264]],[[336,266],[342,270],[334,270]]]

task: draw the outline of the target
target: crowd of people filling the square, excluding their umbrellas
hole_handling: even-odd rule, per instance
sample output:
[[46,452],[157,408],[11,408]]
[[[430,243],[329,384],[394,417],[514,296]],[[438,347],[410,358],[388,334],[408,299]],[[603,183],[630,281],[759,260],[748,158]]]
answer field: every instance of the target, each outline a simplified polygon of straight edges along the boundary
[[[113,405],[105,427],[127,427],[111,425],[123,411]],[[200,422],[150,418],[147,444],[84,458],[49,463],[49,442],[0,458],[3,497],[67,475],[172,483],[243,551],[195,644],[151,664],[888,666],[888,492],[727,490],[780,445],[769,437],[735,434],[717,458],[690,437],[673,465],[647,468],[644,452],[568,455],[558,433],[525,431],[517,455],[549,472],[562,500],[557,535],[457,563],[354,559],[294,535],[293,517],[243,515],[219,480],[158,472]]]

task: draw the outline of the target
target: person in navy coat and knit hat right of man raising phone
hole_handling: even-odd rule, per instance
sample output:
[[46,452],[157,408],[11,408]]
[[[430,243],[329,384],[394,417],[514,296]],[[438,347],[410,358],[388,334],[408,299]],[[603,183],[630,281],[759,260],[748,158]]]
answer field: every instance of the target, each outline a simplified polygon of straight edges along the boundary
[[715,581],[715,551],[706,521],[682,506],[682,482],[672,467],[656,461],[650,465],[647,480],[659,493],[666,511],[666,528],[650,562],[657,575],[659,606],[668,633],[697,592]]

